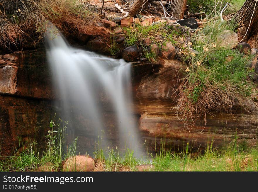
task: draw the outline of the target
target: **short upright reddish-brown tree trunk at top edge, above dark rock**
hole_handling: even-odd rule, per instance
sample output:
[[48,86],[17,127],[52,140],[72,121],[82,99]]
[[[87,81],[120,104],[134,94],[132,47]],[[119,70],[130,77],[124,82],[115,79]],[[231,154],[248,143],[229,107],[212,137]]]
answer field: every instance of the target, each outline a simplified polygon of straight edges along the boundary
[[170,10],[170,15],[177,18],[184,18],[184,10],[186,8],[187,0],[173,0]]

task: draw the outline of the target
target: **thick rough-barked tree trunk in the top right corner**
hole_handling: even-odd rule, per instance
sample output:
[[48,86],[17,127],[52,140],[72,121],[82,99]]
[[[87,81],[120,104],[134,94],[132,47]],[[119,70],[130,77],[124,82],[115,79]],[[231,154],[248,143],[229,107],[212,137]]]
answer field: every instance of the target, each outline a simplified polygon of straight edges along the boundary
[[[251,47],[257,49],[258,48],[258,0],[246,0],[242,8],[236,13],[236,18],[239,23],[239,28],[237,30],[237,35],[239,40],[242,40],[245,37],[242,40],[242,42],[247,42],[251,45]],[[251,24],[250,24],[250,21],[251,21]],[[248,29],[249,24],[250,24],[250,27]]]

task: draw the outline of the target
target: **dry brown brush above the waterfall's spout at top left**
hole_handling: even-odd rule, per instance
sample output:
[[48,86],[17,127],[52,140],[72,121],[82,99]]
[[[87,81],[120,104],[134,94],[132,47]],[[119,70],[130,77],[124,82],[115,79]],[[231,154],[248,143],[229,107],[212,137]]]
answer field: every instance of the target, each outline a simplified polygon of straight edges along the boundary
[[98,16],[85,1],[77,0],[4,0],[5,14],[0,16],[0,46],[22,43],[25,36],[43,38],[47,21],[65,35],[80,35],[94,25]]

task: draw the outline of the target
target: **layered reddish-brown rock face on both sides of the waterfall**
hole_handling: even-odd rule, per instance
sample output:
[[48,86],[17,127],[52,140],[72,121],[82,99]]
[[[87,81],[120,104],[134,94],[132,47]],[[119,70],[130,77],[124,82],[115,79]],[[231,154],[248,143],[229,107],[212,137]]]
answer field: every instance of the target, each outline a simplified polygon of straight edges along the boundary
[[[43,143],[49,122],[59,109],[53,104],[58,99],[52,87],[52,74],[46,62],[44,49],[16,52],[0,57],[0,140],[1,155],[10,155],[21,142],[37,140]],[[184,122],[175,115],[177,92],[184,77],[182,64],[177,60],[160,60],[159,64],[135,62],[132,65],[135,116],[139,123],[142,140],[149,151],[165,146],[178,150],[189,142],[192,150],[203,150],[207,144],[222,147],[234,140],[235,132],[240,139],[256,145],[258,120],[255,115],[236,112],[233,115],[220,113],[207,116],[187,130]],[[105,98],[103,97],[103,103]],[[104,107],[105,108],[105,107]],[[106,107],[104,117],[106,135],[116,143],[115,115]],[[94,148],[96,138],[91,129],[84,129],[85,117],[74,114],[79,146]],[[20,145],[19,145],[20,142]],[[84,152],[85,152],[84,151]],[[88,152],[90,150],[88,149]]]

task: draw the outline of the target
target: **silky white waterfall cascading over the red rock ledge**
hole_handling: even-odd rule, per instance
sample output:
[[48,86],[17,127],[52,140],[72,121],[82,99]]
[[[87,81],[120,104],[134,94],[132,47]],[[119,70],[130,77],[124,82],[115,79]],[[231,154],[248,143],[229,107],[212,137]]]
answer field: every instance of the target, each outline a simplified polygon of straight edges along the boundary
[[[116,114],[120,142],[118,147],[129,148],[134,151],[135,157],[142,157],[142,145],[131,107],[131,64],[122,59],[116,60],[73,48],[54,26],[46,31],[45,37],[47,59],[65,117],[76,111],[76,114],[87,119],[85,129],[91,127],[94,130],[92,135],[100,135],[105,127],[100,101],[104,93],[104,97],[112,104],[111,110]],[[103,140],[103,147],[105,143]]]

